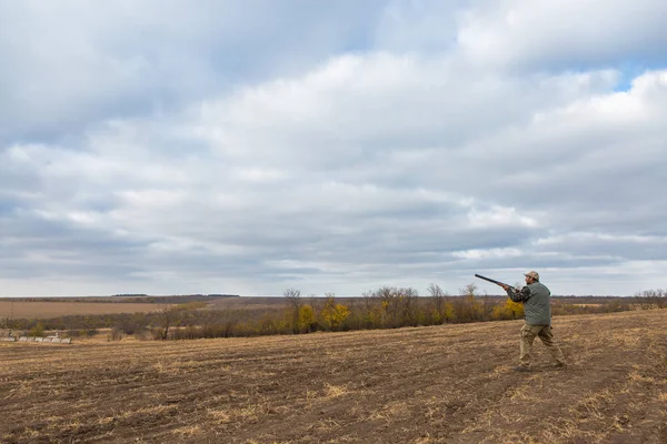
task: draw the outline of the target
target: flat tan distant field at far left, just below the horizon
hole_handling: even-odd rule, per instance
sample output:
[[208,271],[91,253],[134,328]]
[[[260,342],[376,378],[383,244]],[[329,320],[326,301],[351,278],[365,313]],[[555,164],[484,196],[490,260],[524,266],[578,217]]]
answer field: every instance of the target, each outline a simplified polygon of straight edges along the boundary
[[[12,302],[0,300],[0,317],[51,319],[72,314],[117,314],[152,312],[159,304],[104,302]],[[12,314],[13,311],[13,314]]]

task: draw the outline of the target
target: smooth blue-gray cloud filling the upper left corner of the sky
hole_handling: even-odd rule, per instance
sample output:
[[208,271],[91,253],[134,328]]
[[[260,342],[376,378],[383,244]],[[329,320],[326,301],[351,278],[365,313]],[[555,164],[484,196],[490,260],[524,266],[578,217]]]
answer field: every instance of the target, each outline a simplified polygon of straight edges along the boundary
[[379,2],[0,3],[0,140],[48,140],[109,118],[307,68],[364,46]]

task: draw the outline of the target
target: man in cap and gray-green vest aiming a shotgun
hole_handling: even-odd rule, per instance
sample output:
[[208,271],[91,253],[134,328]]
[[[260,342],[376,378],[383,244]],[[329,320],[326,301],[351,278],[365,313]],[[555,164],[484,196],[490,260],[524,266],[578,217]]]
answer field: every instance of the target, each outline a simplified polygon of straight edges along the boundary
[[509,299],[524,304],[524,312],[526,313],[526,324],[521,327],[520,364],[515,370],[519,372],[530,371],[530,352],[535,336],[538,336],[551,353],[551,356],[556,360],[556,366],[565,367],[565,356],[558,344],[554,342],[551,333],[551,305],[549,302],[551,292],[539,282],[537,272],[530,271],[525,276],[526,286],[520,291],[511,289],[509,285],[501,285]]

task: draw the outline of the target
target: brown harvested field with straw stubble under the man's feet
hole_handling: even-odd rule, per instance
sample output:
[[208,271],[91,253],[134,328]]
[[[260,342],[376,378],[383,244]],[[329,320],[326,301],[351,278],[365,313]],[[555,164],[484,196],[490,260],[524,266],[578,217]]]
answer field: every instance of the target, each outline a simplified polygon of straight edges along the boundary
[[667,310],[183,342],[0,343],[3,443],[667,443]]

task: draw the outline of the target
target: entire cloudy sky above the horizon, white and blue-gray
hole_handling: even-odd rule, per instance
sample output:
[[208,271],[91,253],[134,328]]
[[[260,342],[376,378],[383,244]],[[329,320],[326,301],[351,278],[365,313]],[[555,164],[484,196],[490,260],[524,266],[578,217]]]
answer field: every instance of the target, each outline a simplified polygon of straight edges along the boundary
[[0,0],[0,294],[667,287],[665,17]]

